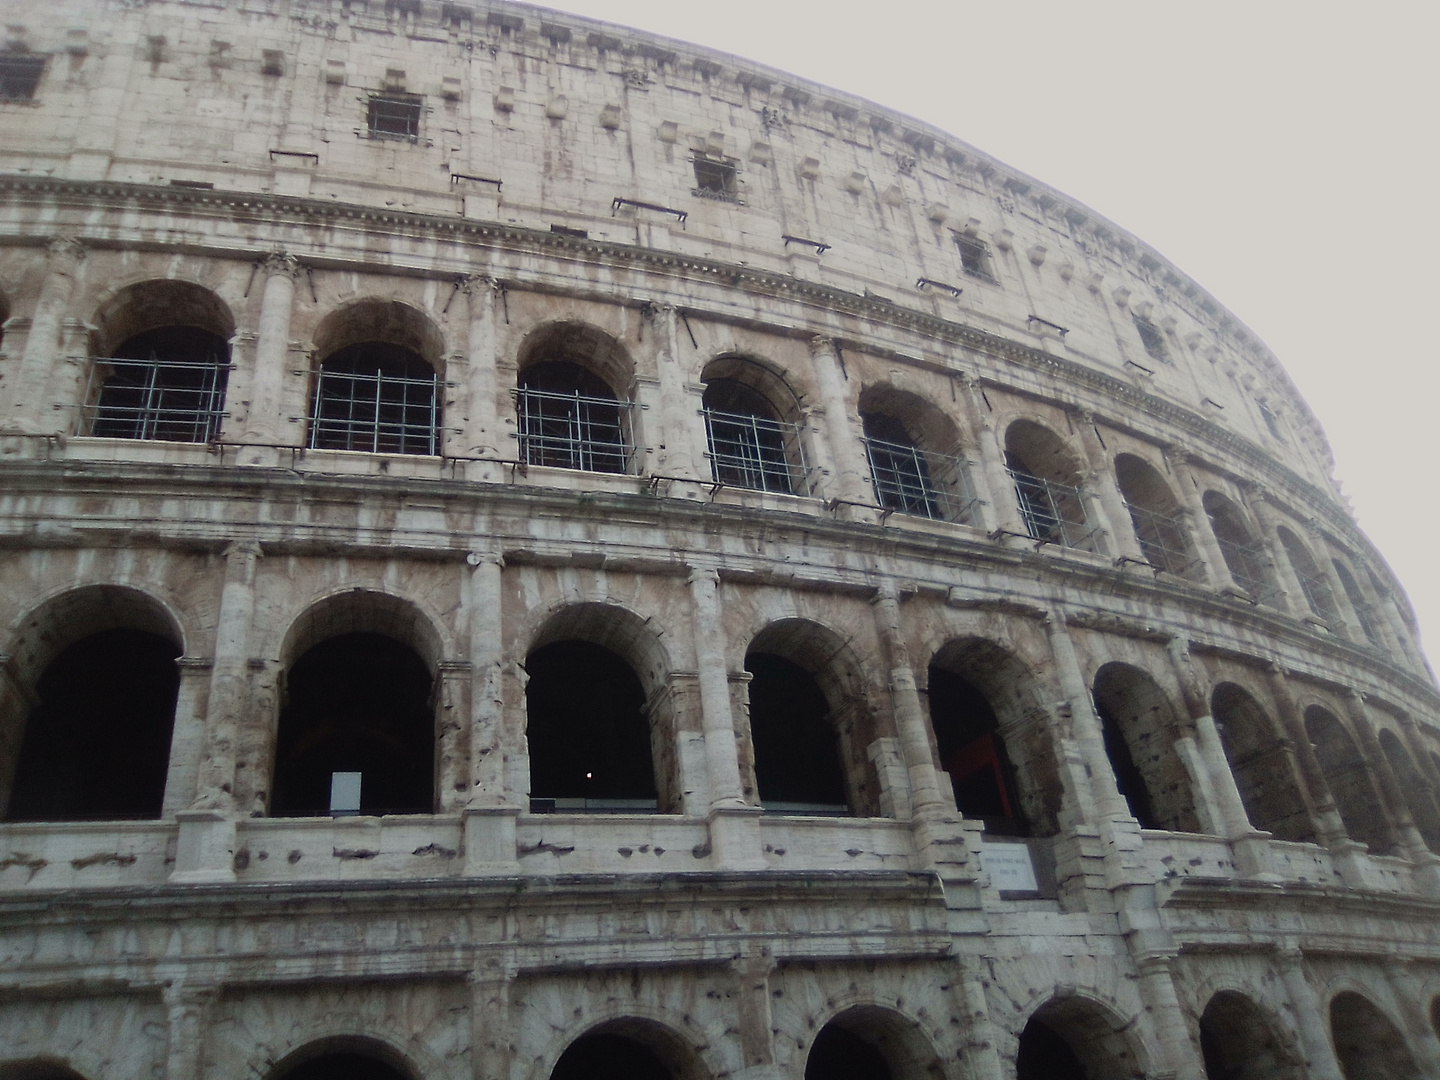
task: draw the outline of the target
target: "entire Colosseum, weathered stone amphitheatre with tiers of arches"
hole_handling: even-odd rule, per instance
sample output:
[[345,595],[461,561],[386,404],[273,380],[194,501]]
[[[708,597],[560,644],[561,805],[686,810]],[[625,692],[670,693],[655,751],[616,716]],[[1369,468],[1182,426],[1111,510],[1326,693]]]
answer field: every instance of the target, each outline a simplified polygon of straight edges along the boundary
[[0,36],[0,1077],[1440,1077],[1440,693],[1279,361],[505,0]]

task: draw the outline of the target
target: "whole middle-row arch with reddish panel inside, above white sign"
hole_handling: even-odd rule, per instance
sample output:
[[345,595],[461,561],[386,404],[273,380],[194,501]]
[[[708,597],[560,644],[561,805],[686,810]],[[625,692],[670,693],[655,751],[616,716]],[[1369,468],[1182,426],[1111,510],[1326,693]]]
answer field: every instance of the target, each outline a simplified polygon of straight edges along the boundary
[[[1012,652],[984,638],[956,638],[930,660],[926,696],[940,768],[950,773],[955,801],[981,816],[989,832],[1054,835],[1060,812],[1060,766],[1047,724],[1045,698],[1034,672]],[[1009,811],[998,818],[968,809],[972,792],[956,776],[989,772],[1001,793],[1011,785]],[[982,778],[976,778],[984,785]],[[973,795],[989,795],[984,788]],[[994,795],[991,795],[994,802]],[[978,805],[984,809],[984,805]]]

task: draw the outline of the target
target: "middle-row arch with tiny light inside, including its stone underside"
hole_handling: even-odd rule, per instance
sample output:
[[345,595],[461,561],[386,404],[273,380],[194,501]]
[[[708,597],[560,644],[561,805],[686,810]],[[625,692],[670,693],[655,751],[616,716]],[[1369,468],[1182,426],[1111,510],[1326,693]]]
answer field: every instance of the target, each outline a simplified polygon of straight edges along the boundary
[[534,809],[680,812],[671,660],[648,619],[566,605],[531,638],[524,668]]

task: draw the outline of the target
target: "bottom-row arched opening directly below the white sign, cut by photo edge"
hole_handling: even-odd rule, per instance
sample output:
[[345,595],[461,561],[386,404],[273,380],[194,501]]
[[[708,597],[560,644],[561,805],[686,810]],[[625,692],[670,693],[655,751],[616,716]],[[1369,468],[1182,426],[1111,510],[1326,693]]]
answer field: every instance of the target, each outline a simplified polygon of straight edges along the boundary
[[1015,1080],[1140,1080],[1126,1027],[1084,998],[1051,998],[1020,1034]]

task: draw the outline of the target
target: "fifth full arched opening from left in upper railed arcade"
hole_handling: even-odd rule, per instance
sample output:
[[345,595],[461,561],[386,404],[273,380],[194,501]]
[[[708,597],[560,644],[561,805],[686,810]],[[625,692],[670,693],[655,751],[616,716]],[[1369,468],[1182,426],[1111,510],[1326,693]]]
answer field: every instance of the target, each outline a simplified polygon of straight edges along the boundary
[[860,419],[881,507],[973,523],[975,491],[960,455],[959,432],[945,413],[913,393],[871,386],[860,395]]

